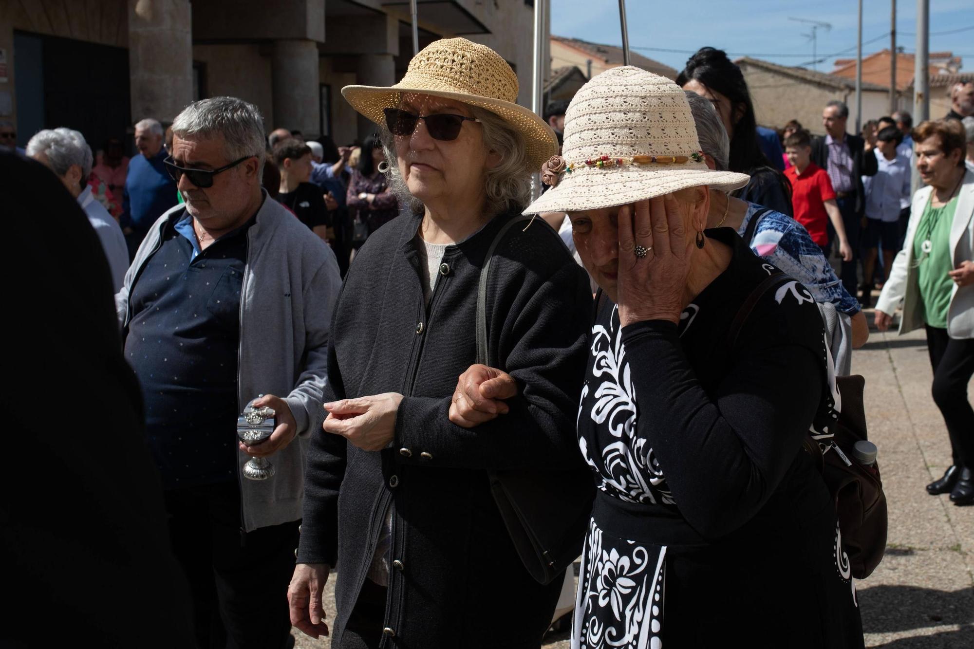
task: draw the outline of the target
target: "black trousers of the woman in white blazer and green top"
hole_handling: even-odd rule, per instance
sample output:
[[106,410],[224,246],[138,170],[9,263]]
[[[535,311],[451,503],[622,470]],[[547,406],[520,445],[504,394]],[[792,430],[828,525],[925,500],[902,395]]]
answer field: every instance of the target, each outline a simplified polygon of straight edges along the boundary
[[933,401],[947,424],[954,464],[974,469],[974,408],[967,400],[974,339],[951,338],[947,329],[927,325],[926,344],[933,365]]

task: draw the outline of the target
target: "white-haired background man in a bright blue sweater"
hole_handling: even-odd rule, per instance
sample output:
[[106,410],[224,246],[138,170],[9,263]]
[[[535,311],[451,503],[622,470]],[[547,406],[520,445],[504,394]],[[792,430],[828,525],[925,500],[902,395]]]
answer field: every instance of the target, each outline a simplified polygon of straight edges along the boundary
[[163,164],[168,155],[163,146],[163,125],[153,119],[135,124],[135,148],[141,155],[129,162],[119,218],[131,257],[149,227],[177,203],[175,183]]

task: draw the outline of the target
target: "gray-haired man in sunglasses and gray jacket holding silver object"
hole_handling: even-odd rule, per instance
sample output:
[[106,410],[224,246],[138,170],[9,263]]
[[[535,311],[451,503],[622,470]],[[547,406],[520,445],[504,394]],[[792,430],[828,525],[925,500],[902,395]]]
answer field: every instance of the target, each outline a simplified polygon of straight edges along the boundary
[[[185,205],[149,229],[116,296],[142,385],[172,547],[189,578],[199,646],[288,642],[285,592],[302,512],[307,438],[324,418],[334,254],[261,187],[263,121],[234,97],[189,105],[166,169]],[[237,440],[244,407],[273,435]],[[250,457],[275,473],[243,477]]]

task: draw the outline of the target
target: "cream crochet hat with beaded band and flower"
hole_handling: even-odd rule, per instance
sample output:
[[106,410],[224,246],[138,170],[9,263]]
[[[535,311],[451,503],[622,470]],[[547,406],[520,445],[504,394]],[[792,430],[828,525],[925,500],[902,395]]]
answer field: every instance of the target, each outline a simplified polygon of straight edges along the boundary
[[612,208],[700,185],[731,191],[750,180],[708,169],[683,90],[631,65],[581,87],[565,113],[564,141],[562,160],[546,165],[556,185],[524,213]]

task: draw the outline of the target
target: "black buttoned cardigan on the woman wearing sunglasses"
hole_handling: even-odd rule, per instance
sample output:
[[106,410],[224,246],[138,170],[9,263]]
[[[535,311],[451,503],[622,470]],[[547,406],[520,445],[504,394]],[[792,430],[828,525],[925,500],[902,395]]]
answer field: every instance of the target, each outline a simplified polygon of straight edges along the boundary
[[475,361],[480,267],[515,213],[446,249],[429,308],[412,241],[418,217],[376,231],[345,280],[325,398],[405,399],[391,448],[362,451],[323,432],[312,439],[298,560],[338,562],[333,642],[341,643],[390,503],[395,569],[384,626],[394,635],[384,646],[538,647],[550,622],[560,580],[542,587],[530,578],[485,471],[581,464],[575,414],[591,293],[541,219],[508,231],[487,288],[488,344],[519,395],[508,414],[471,430],[448,418],[457,378]]

